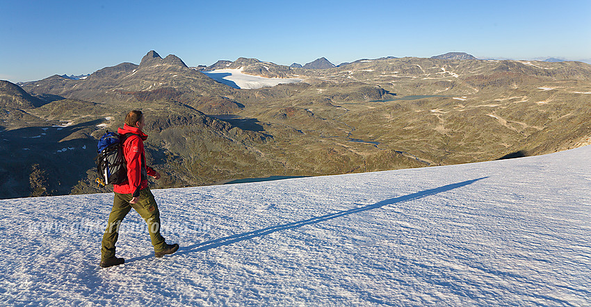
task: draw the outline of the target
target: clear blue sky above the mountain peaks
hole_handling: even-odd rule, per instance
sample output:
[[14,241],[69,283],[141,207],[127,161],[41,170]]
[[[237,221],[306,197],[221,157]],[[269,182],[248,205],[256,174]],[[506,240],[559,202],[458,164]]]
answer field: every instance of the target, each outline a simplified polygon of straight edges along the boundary
[[258,58],[335,65],[382,56],[591,58],[591,1],[0,0],[0,79],[139,64]]

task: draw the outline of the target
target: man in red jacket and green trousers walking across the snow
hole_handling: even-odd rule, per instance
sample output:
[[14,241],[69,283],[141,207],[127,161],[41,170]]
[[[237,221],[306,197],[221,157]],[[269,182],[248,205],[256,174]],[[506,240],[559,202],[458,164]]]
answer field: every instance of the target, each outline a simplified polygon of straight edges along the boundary
[[[122,144],[127,161],[127,181],[113,185],[115,199],[103,235],[101,267],[112,267],[125,262],[123,258],[115,257],[115,243],[119,237],[121,222],[131,208],[135,209],[147,223],[149,236],[154,245],[154,256],[162,257],[179,249],[179,244],[166,244],[160,235],[160,212],[147,181],[147,176],[160,179],[160,174],[146,166],[143,141],[147,139],[147,135],[142,132],[144,124],[145,118],[142,112],[133,110],[127,113],[123,128],[118,130],[124,138]],[[130,134],[126,135],[126,133]]]

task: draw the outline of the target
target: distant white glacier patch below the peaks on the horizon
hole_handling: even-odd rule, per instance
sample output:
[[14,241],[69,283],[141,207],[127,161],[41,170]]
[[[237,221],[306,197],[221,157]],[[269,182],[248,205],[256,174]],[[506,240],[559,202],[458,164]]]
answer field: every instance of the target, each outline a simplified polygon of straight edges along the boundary
[[[268,70],[268,67],[267,67]],[[203,72],[213,80],[216,80],[232,88],[255,89],[275,86],[282,83],[301,82],[300,78],[265,78],[261,76],[252,76],[243,74],[241,69],[216,69],[210,72]]]

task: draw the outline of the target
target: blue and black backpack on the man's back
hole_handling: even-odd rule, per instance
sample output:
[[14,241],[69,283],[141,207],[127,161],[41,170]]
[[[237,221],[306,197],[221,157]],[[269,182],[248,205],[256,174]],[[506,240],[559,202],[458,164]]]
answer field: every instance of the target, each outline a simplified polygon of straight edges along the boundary
[[[127,181],[127,162],[123,156],[123,142],[129,135],[115,132],[105,133],[97,145],[97,180],[99,185],[121,184]],[[138,135],[139,136],[139,135]]]

